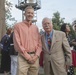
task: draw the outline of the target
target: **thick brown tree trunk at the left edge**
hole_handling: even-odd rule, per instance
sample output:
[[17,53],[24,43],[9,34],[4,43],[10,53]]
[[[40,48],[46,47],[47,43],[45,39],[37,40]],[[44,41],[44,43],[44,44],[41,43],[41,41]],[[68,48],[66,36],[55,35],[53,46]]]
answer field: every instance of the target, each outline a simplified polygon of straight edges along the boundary
[[0,0],[0,40],[5,34],[5,0]]

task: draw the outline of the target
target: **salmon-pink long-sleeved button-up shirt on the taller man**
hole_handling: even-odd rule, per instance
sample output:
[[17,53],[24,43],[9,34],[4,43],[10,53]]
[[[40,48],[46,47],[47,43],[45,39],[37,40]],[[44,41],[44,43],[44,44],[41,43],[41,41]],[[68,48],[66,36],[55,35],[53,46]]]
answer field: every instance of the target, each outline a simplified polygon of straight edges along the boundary
[[36,55],[40,56],[42,51],[41,37],[36,25],[23,21],[14,26],[14,47],[20,53],[25,53],[26,59],[30,55],[27,52],[36,51]]

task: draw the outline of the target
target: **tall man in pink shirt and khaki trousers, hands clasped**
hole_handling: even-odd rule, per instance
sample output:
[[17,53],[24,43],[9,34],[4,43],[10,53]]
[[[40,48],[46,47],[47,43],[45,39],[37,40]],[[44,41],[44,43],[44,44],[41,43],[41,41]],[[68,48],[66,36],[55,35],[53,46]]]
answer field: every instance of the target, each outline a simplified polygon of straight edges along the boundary
[[42,45],[38,28],[32,24],[34,9],[26,7],[24,15],[26,19],[14,26],[14,47],[18,51],[17,75],[38,75]]

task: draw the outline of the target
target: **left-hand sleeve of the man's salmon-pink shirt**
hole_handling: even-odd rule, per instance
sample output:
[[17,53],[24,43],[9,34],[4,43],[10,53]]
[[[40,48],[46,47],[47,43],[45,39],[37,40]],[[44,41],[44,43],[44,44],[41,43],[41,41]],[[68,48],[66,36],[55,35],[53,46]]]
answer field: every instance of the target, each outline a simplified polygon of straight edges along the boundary
[[20,43],[21,40],[20,40],[20,34],[17,25],[14,26],[13,41],[14,41],[15,50],[20,54],[23,54],[25,56],[25,59],[28,60],[31,56],[26,52],[25,48]]

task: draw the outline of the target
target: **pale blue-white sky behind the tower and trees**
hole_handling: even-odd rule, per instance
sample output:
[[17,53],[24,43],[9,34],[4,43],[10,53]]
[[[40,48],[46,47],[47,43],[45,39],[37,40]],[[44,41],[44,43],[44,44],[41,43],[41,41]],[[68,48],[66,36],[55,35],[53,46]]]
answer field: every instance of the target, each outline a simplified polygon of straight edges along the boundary
[[[13,4],[12,16],[17,22],[22,21],[21,10],[15,8],[18,0],[9,0]],[[41,0],[41,9],[37,10],[37,23],[42,28],[42,19],[44,17],[52,18],[53,13],[59,12],[61,18],[65,18],[65,22],[72,23],[76,19],[76,0]]]

